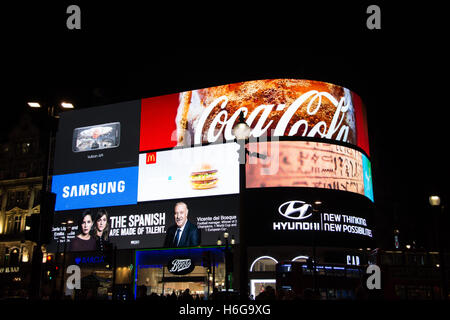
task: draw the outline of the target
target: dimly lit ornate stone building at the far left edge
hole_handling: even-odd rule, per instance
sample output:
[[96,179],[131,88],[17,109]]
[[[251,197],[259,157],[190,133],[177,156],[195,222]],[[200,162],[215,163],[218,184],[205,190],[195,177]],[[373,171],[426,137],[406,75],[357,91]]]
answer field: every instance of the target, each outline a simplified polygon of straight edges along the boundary
[[0,140],[0,297],[25,296],[35,243],[25,239],[27,217],[40,212],[45,156],[30,114]]

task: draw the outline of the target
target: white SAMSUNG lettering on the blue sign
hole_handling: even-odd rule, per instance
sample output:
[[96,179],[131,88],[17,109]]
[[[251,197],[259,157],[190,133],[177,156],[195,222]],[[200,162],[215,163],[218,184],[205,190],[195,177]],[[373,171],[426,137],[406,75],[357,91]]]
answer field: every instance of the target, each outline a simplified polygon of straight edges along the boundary
[[63,187],[63,198],[95,196],[108,193],[122,193],[125,191],[125,181],[109,181],[91,184],[80,184]]

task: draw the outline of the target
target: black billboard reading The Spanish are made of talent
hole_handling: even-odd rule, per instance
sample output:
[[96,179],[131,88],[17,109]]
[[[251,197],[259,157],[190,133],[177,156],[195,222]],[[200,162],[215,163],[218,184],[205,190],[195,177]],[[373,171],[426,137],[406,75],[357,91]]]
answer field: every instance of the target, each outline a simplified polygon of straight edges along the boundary
[[[183,222],[176,211],[186,214],[184,230],[174,243],[177,222]],[[58,211],[49,250],[57,250],[58,243],[63,249],[66,227],[62,222],[68,220],[73,221],[67,233],[69,251],[98,251],[112,244],[118,249],[215,245],[225,231],[239,241],[237,195]]]

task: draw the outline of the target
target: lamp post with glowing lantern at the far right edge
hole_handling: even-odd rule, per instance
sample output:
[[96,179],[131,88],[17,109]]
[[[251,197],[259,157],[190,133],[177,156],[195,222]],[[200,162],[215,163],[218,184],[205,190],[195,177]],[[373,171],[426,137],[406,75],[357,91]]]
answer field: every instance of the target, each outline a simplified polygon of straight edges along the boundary
[[[444,205],[441,204],[441,198],[437,195],[431,195],[428,201],[432,208],[434,208],[434,226],[436,228],[436,246],[439,249],[439,268],[441,269],[441,281],[442,281],[442,297],[444,300],[448,300],[448,284],[447,284],[447,270],[445,261],[445,246],[442,239],[442,225],[444,217]],[[436,223],[437,220],[437,223]]]

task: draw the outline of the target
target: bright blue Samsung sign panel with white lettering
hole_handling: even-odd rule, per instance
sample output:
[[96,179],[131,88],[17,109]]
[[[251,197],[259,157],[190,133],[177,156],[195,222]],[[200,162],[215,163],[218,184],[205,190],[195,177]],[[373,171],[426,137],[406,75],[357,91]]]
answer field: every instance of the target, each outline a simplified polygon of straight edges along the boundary
[[137,203],[138,167],[53,176],[55,211]]

